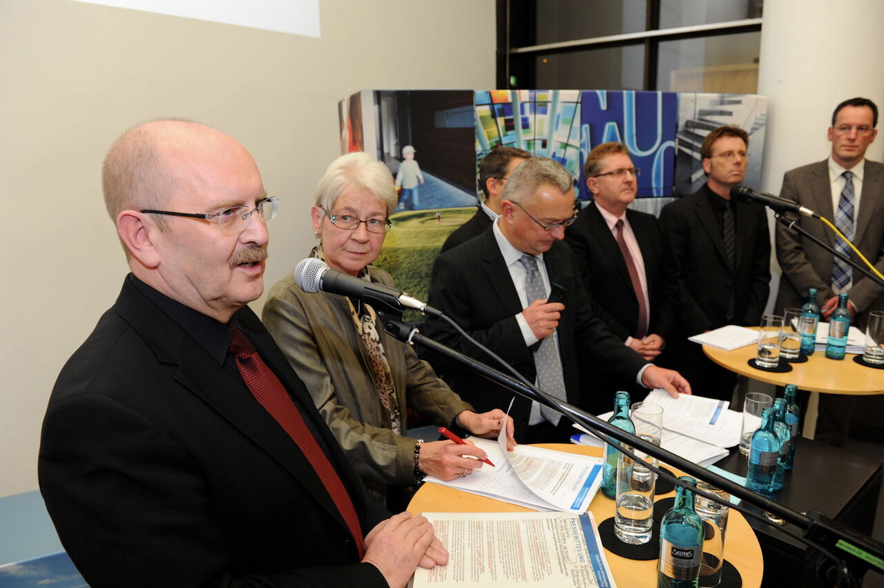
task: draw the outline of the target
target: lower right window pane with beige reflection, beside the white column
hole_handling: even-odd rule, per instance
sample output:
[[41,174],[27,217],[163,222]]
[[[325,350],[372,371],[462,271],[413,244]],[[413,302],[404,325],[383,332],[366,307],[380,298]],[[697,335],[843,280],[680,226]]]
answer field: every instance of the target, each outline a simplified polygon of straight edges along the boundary
[[760,33],[661,41],[657,89],[755,94],[760,44]]

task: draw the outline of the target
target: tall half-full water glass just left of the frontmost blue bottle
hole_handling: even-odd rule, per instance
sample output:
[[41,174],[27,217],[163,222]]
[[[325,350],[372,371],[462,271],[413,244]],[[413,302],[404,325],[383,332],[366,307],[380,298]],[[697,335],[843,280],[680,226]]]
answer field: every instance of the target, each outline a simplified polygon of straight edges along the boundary
[[651,540],[654,525],[654,483],[657,474],[647,466],[657,459],[633,449],[639,459],[620,454],[617,460],[617,496],[613,532],[623,543],[641,545]]

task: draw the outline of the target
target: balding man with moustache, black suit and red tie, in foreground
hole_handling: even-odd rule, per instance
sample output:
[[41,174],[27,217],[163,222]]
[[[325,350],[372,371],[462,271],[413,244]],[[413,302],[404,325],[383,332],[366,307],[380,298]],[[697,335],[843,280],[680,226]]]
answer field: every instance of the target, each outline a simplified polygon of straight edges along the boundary
[[103,188],[132,273],[58,376],[39,457],[88,584],[403,586],[446,562],[426,519],[366,500],[247,306],[278,203],[246,149],[143,124],[111,148]]

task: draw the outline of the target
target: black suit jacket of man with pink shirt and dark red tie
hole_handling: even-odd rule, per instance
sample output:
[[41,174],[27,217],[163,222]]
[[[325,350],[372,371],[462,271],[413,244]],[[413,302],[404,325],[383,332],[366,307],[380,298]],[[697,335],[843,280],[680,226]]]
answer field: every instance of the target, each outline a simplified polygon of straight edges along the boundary
[[[664,288],[669,281],[664,282],[663,239],[657,217],[628,209],[626,218],[636,235],[644,260],[644,278],[651,307],[648,334],[656,333],[666,339],[672,318],[672,292]],[[606,317],[606,323],[613,334],[624,341],[628,336],[635,335],[638,298],[632,288],[620,245],[617,245],[617,239],[595,203],[583,208],[574,224],[565,231],[565,240],[574,249],[583,286],[605,309],[609,317]]]

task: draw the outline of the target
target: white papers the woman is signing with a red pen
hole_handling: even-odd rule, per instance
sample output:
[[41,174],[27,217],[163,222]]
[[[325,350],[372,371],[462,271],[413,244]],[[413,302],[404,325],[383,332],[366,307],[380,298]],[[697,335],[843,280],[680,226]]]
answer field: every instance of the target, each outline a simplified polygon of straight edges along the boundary
[[427,476],[423,480],[452,486],[472,494],[535,510],[561,510],[582,514],[601,485],[602,460],[552,449],[518,445],[507,451],[501,428],[498,441],[472,437],[484,449],[494,467],[485,464],[466,478],[445,481]]

